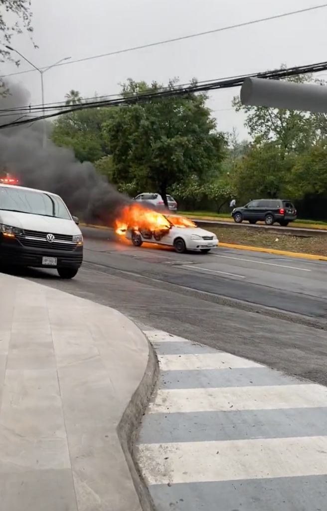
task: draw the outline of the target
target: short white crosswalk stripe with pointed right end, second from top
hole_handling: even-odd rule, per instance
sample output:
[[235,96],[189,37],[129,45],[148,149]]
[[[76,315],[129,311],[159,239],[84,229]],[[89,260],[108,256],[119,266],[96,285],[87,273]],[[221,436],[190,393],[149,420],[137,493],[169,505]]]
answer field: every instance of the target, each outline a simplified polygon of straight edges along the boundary
[[163,371],[193,371],[210,369],[236,369],[264,367],[261,364],[235,357],[229,353],[200,353],[185,355],[158,355],[160,369]]

